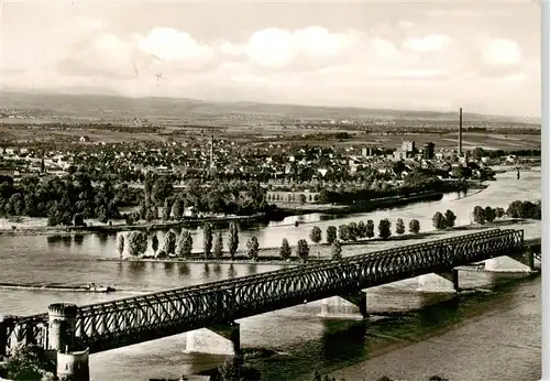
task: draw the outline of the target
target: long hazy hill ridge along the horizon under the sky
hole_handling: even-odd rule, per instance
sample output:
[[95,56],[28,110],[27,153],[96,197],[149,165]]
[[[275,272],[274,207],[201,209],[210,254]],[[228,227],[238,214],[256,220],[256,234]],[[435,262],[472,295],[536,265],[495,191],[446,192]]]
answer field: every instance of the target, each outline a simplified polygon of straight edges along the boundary
[[[74,91],[72,91],[74,92]],[[78,91],[80,92],[80,91]],[[86,91],[81,91],[86,92]],[[127,98],[119,95],[31,94],[0,91],[0,109],[16,107],[58,117],[154,120],[248,119],[421,119],[457,120],[457,112],[315,107],[256,102],[210,102],[179,98]],[[503,123],[540,123],[538,118],[486,116],[464,112],[464,120]]]

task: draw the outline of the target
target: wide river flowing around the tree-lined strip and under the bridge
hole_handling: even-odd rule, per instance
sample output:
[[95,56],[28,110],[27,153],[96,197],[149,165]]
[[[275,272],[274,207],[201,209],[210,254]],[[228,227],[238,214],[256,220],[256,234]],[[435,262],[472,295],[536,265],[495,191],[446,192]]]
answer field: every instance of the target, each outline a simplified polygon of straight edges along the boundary
[[[299,238],[307,238],[314,222],[324,230],[329,225],[338,226],[353,220],[373,219],[377,224],[377,220],[386,217],[394,221],[397,218],[404,218],[406,222],[411,218],[417,218],[420,220],[422,230],[431,230],[431,216],[438,210],[444,211],[446,209],[452,209],[457,214],[458,225],[468,224],[471,220],[471,211],[476,205],[507,207],[515,199],[536,200],[540,198],[540,172],[524,172],[520,181],[516,179],[515,173],[505,173],[498,175],[496,182],[490,183],[487,189],[465,197],[464,195],[448,195],[439,202],[354,214],[337,219],[320,214],[294,217],[311,222],[298,227],[294,227],[294,218],[271,222],[268,226],[242,226],[241,246],[244,246],[250,235],[258,237],[262,247],[278,246],[283,238],[294,243]],[[194,233],[196,250],[200,250],[200,229]],[[540,231],[526,233],[526,236],[537,235],[540,235]],[[47,305],[54,302],[87,304],[278,269],[277,265],[270,264],[119,263],[96,260],[117,257],[116,242],[116,236],[99,235],[68,238],[0,236],[0,282],[64,284],[95,282],[124,291],[107,295],[0,290],[0,313],[38,313],[45,312]],[[450,301],[435,307],[427,307],[427,305],[433,302],[433,297],[440,297],[440,295],[416,293],[417,284],[414,281],[408,285],[405,282],[397,289],[373,289],[367,294],[367,303],[373,312],[420,309],[418,313],[406,316],[396,315],[370,323],[322,319],[317,316],[320,308],[314,304],[258,315],[241,322],[241,342],[243,347],[266,347],[282,353],[272,359],[254,360],[254,364],[263,371],[266,380],[300,379],[305,373],[310,374],[315,368],[336,371],[348,366],[352,367],[344,371],[349,380],[362,380],[363,377],[371,380],[371,377],[366,378],[367,374],[375,377],[380,372],[417,380],[417,375],[421,373],[418,369],[427,372],[433,368],[433,362],[444,366],[446,368],[441,369],[440,373],[446,371],[446,375],[452,375],[453,380],[502,380],[503,378],[493,378],[492,374],[501,374],[498,372],[503,362],[497,360],[495,357],[497,355],[492,357],[485,353],[491,351],[491,348],[498,348],[502,352],[502,335],[495,335],[494,338],[486,335],[487,325],[490,327],[492,325],[487,323],[491,319],[487,320],[486,316],[497,316],[493,319],[495,326],[491,329],[498,333],[509,328],[505,329],[507,338],[510,342],[522,346],[521,350],[517,350],[519,355],[516,353],[515,360],[506,364],[515,367],[519,362],[534,363],[530,372],[521,368],[521,372],[526,372],[527,378],[520,377],[515,380],[535,380],[540,377],[537,375],[540,374],[540,334],[538,334],[538,328],[532,328],[540,327],[540,300],[537,296],[540,294],[540,279],[509,283],[510,276],[515,277],[488,273],[461,273],[463,286],[482,287],[488,293],[464,296],[459,301]],[[536,297],[525,297],[526,293],[535,294]],[[518,301],[522,301],[522,304]],[[506,313],[491,315],[503,311]],[[528,316],[525,317],[527,312]],[[528,322],[524,322],[521,317]],[[486,324],[479,322],[486,322]],[[530,330],[534,329],[530,336],[525,334],[526,324]],[[483,342],[474,339],[471,344],[461,341],[458,348],[457,336],[453,338],[452,335],[448,336],[449,333],[444,334],[446,330],[457,325],[470,327],[471,336],[483,336]],[[537,334],[538,337],[532,337]],[[455,349],[460,353],[457,355],[457,367],[453,368],[451,360],[444,360],[441,357],[435,360],[436,357],[427,356],[426,353],[429,352],[427,349],[407,352],[408,357],[403,363],[410,364],[411,374],[415,374],[410,377],[406,377],[408,368],[402,367],[400,358],[398,362],[381,360],[394,352],[402,352],[413,347],[400,348],[404,345],[422,345],[430,342],[426,340],[433,337],[439,337],[440,341],[436,340],[433,346],[439,346],[443,353],[446,350],[451,353],[452,348],[458,348]],[[482,344],[486,348],[483,352],[484,357],[471,357],[470,353],[480,350]],[[95,381],[178,377],[185,372],[215,367],[221,360],[215,356],[185,355],[184,348],[185,334],[94,355],[90,360],[91,377]],[[484,371],[480,370],[479,374],[485,375],[477,377],[475,371],[462,369],[465,359],[472,361],[470,364],[472,369],[484,367]],[[361,368],[364,361],[372,363],[367,366],[369,371]],[[435,369],[435,373],[437,372],[439,370]],[[424,375],[420,379],[425,379]]]

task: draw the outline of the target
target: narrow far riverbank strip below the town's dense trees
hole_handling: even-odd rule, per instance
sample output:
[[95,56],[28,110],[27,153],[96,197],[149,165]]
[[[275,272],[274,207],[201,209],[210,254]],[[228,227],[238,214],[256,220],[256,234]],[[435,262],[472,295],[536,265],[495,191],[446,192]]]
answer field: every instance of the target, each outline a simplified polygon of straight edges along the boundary
[[[486,187],[484,185],[479,192],[483,190]],[[474,188],[475,189],[475,188]],[[384,197],[375,200],[369,200],[364,203],[355,203],[352,205],[332,205],[332,204],[319,204],[317,206],[306,206],[299,207],[299,206],[293,206],[292,208],[289,207],[282,207],[279,209],[279,216],[278,217],[288,217],[288,216],[296,216],[296,215],[304,215],[304,214],[310,214],[310,213],[326,213],[326,214],[350,214],[350,213],[361,213],[361,211],[371,211],[371,210],[376,210],[378,208],[384,208],[384,207],[395,207],[395,206],[402,206],[402,205],[407,205],[411,203],[417,203],[417,202],[424,202],[424,200],[437,200],[441,199],[443,197],[444,193],[443,192],[419,192],[415,193],[410,196],[389,196],[389,197]],[[374,204],[376,202],[376,204]],[[218,224],[223,224],[223,222],[231,222],[231,221],[258,221],[258,220],[265,220],[268,219],[270,216],[268,214],[265,213],[257,213],[254,215],[250,216],[223,216],[223,217],[206,217],[206,218],[185,218],[182,220],[169,220],[169,221],[154,221],[154,222],[148,222],[148,224],[135,224],[135,225],[128,225],[128,224],[102,224],[102,225],[95,225],[95,226],[86,226],[86,227],[79,227],[79,226],[30,226],[30,227],[16,227],[13,229],[13,227],[10,228],[0,228],[0,235],[21,235],[21,236],[41,236],[41,235],[88,235],[88,233],[97,233],[97,232],[106,232],[106,233],[112,233],[112,232],[118,232],[118,231],[133,231],[133,230],[141,230],[141,231],[150,231],[150,230],[163,230],[163,229],[169,229],[169,228],[177,228],[177,227],[184,227],[184,226],[189,226],[189,225],[197,225],[197,224],[206,224],[206,222],[218,222]],[[301,222],[306,224],[306,222]],[[9,222],[8,222],[9,225]]]

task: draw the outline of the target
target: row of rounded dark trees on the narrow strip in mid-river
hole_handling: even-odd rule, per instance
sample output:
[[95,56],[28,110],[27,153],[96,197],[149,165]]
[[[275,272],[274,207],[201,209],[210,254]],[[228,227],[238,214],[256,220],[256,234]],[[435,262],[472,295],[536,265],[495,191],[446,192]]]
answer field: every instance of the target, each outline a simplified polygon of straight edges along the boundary
[[[481,207],[476,206],[473,210],[474,221],[483,225],[485,222],[493,222],[496,218],[505,216],[510,218],[534,218],[540,219],[541,204],[531,202],[516,200],[508,206],[507,210],[504,208],[493,208],[491,206]],[[455,225],[455,214],[448,209],[444,214],[437,211],[432,217],[433,227],[437,230],[444,230],[453,228]],[[387,240],[392,236],[392,221],[384,218],[378,221],[378,237]],[[420,232],[420,222],[417,219],[411,219],[408,222],[408,230],[413,235]],[[406,232],[406,225],[403,218],[398,218],[395,224],[395,233],[403,236]],[[210,224],[205,224],[202,240],[202,254],[204,259],[222,259],[224,254],[223,238],[221,231],[216,235],[212,231]],[[342,255],[341,242],[355,242],[364,239],[372,239],[375,236],[375,225],[372,219],[364,221],[352,221],[348,225],[329,226],[326,230],[326,241],[331,246],[331,257],[333,260],[340,259]],[[120,258],[124,252],[128,244],[128,252],[133,258],[142,257],[148,246],[150,236],[144,231],[133,231],[129,235],[120,235],[118,242],[118,251]],[[322,241],[322,231],[319,227],[314,226],[309,233],[309,240],[319,244]],[[182,230],[179,237],[170,229],[165,238],[162,248],[156,233],[151,236],[151,247],[156,259],[180,258],[191,259],[193,253],[193,236],[188,230]],[[230,260],[235,259],[239,248],[239,228],[235,222],[229,226],[229,239],[227,243],[227,253]],[[296,257],[305,262],[309,257],[309,244],[306,239],[299,239],[296,247]],[[289,246],[286,238],[283,239],[278,250],[282,260],[287,261],[292,259],[293,248]],[[246,241],[246,255],[250,260],[257,260],[260,253],[260,243],[255,236],[252,236]]]

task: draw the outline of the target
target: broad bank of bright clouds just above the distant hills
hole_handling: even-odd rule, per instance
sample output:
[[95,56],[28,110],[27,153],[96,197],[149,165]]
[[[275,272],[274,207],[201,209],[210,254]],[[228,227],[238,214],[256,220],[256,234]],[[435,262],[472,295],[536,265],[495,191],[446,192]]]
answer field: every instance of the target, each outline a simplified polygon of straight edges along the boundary
[[538,91],[539,69],[526,61],[539,57],[527,56],[512,37],[452,33],[417,20],[392,28],[264,28],[239,31],[239,40],[200,40],[162,24],[132,33],[74,17],[42,40],[8,39],[2,80],[40,88],[103,86],[129,96],[428,109],[477,98],[483,107],[491,98],[508,109],[517,104],[509,95]]

